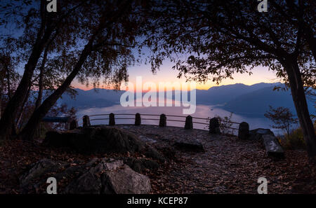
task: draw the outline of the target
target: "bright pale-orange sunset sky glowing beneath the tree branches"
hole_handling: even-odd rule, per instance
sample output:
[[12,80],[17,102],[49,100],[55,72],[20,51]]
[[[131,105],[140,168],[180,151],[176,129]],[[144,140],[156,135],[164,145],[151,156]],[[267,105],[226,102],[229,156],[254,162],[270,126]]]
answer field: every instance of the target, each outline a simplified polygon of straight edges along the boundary
[[[173,63],[169,61],[164,61],[162,67],[156,74],[152,74],[150,70],[150,65],[140,64],[135,67],[129,68],[129,81],[132,83],[136,83],[136,76],[143,76],[143,83],[147,81],[152,81],[154,83],[159,82],[185,82],[185,78],[177,78],[178,71],[173,70]],[[268,68],[265,67],[256,67],[253,70],[253,74],[249,76],[249,74],[235,74],[234,79],[225,79],[223,80],[220,85],[230,85],[235,83],[244,83],[245,85],[253,85],[255,83],[275,83],[279,81],[275,73],[273,71],[268,71]],[[206,83],[196,83],[197,89],[199,90],[207,90],[216,85],[212,81],[208,81]],[[86,87],[86,85],[81,85],[77,80],[72,82],[72,86],[74,88],[80,88],[82,90],[90,90],[93,88],[92,85]],[[102,85],[101,85],[102,86]],[[100,86],[100,87],[101,87]],[[102,86],[102,88],[108,88],[107,86]],[[125,89],[121,89],[125,90]]]

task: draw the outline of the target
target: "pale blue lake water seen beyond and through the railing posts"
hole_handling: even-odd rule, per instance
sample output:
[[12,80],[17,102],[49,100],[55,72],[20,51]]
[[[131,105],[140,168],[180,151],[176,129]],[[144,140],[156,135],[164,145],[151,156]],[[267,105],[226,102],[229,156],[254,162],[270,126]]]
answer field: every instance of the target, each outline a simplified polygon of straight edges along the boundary
[[[79,119],[79,125],[82,125],[82,116],[84,115],[94,115],[94,114],[108,114],[108,113],[114,113],[114,114],[119,114],[119,113],[140,113],[140,114],[157,114],[160,115],[162,113],[166,115],[171,115],[171,116],[187,116],[183,115],[183,106],[150,106],[150,107],[145,107],[145,106],[128,106],[128,107],[123,107],[121,105],[114,105],[110,107],[104,107],[104,108],[90,108],[90,109],[81,109],[77,112],[77,118]],[[185,118],[178,118],[178,117],[171,117],[171,116],[166,116],[167,117],[167,125],[170,126],[176,126],[176,127],[184,127],[184,121]],[[197,117],[197,118],[213,118],[214,116],[230,116],[230,112],[225,111],[223,109],[220,109],[218,106],[207,106],[207,105],[197,105],[196,106],[196,111],[191,115],[192,117]],[[108,120],[93,120],[94,118],[108,118],[108,116],[92,116],[91,119],[91,125],[98,125],[98,124],[108,124]],[[115,116],[115,123],[116,124],[133,124],[135,116],[122,116],[122,115],[117,115]],[[131,119],[117,119],[117,118],[131,118]],[[156,118],[159,119],[159,116],[141,116],[141,118]],[[169,120],[170,119],[170,120]],[[183,122],[178,122],[178,121],[171,121],[171,120],[183,120]],[[232,115],[232,121],[235,121],[237,123],[241,123],[245,121],[246,123],[249,123],[250,130],[256,129],[256,128],[269,128],[275,134],[279,134],[279,130],[272,129],[270,125],[272,124],[268,118],[249,118],[243,115],[237,115],[233,114]],[[206,120],[201,120],[201,119],[195,119],[193,118],[193,122],[199,122],[199,123],[208,123]],[[193,123],[193,127],[196,129],[206,129],[206,124],[199,124],[199,123]],[[149,124],[149,125],[158,125],[159,120],[142,120],[142,124]],[[237,127],[238,125],[232,125],[232,127]]]

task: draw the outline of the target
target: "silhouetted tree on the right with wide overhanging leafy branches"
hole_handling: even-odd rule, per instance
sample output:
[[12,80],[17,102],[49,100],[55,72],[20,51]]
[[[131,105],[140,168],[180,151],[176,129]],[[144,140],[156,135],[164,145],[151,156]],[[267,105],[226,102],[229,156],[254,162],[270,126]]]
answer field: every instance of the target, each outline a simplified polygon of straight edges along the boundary
[[[169,57],[179,77],[219,83],[234,73],[251,74],[258,66],[275,71],[291,89],[296,113],[315,158],[316,137],[305,88],[315,88],[315,1],[164,1],[153,8],[156,18],[147,39],[152,69]],[[186,53],[185,59],[176,56]],[[176,55],[175,55],[176,54]]]

